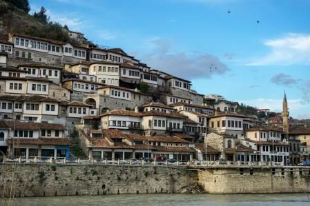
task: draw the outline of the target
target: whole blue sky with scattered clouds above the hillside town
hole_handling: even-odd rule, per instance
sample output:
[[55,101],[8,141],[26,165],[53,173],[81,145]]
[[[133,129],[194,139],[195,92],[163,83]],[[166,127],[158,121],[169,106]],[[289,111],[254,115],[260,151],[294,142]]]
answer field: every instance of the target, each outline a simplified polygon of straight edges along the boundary
[[310,0],[30,0],[51,21],[246,105],[310,119]]

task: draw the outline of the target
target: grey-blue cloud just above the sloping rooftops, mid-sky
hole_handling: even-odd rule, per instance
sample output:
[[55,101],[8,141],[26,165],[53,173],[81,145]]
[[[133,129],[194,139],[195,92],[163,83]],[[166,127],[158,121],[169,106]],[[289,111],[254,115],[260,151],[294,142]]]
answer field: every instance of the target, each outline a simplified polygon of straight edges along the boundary
[[229,68],[217,56],[206,53],[175,52],[168,39],[151,40],[151,52],[142,55],[148,65],[184,79],[224,74]]

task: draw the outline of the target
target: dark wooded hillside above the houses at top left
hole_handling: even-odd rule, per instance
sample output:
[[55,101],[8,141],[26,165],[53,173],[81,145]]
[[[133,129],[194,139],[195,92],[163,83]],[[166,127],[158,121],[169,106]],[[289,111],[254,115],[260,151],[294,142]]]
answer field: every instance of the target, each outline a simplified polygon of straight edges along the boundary
[[[26,8],[21,4],[26,4]],[[68,41],[68,31],[59,23],[49,21],[44,8],[32,15],[28,14],[29,10],[28,0],[0,0],[0,39],[7,40],[8,33],[21,33]]]

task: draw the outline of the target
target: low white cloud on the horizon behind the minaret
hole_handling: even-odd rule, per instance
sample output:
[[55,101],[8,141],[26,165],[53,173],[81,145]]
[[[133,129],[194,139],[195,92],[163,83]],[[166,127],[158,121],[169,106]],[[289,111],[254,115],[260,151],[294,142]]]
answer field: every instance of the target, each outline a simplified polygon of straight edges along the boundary
[[[287,101],[289,105],[289,112],[291,112],[290,116],[299,119],[299,116],[304,115],[304,112],[309,112],[310,104],[302,103],[302,99],[288,99]],[[238,102],[257,107],[258,109],[270,109],[273,112],[282,111],[282,99],[259,98],[240,100]]]

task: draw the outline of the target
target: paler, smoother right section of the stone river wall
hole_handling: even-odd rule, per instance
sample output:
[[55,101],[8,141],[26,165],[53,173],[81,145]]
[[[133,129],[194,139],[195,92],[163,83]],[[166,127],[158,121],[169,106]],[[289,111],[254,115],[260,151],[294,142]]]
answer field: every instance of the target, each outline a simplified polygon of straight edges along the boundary
[[[206,169],[198,172],[198,184],[211,194],[310,192],[309,169],[294,167]],[[283,170],[282,170],[283,169]]]

